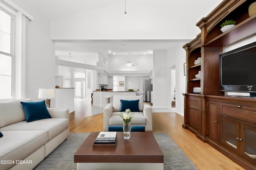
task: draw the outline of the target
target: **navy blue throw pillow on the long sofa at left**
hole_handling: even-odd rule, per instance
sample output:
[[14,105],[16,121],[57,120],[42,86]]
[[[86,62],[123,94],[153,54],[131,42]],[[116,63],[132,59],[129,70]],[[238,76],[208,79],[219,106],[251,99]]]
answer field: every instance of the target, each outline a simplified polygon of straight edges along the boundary
[[27,118],[27,122],[52,118],[46,105],[45,101],[40,102],[20,102]]

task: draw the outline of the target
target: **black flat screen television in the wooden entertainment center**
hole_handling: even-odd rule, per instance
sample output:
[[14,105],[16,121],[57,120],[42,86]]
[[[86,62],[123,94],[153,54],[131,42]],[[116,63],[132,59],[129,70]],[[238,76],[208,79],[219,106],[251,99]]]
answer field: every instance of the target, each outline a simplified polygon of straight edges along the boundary
[[224,92],[256,92],[256,42],[220,55]]

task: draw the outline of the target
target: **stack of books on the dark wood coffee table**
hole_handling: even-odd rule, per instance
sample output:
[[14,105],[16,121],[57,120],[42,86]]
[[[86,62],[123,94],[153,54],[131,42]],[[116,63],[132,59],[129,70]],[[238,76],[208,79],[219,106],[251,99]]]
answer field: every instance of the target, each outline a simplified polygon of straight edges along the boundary
[[116,147],[116,143],[116,132],[100,132],[93,143],[93,147]]

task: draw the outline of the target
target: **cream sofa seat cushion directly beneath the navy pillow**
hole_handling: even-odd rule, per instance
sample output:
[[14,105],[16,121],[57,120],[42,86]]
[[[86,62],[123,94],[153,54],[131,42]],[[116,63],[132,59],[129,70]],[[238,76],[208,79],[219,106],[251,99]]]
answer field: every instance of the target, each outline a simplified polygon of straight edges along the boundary
[[69,121],[65,118],[40,119],[32,122],[21,121],[1,128],[1,131],[48,131],[48,141],[68,128]]

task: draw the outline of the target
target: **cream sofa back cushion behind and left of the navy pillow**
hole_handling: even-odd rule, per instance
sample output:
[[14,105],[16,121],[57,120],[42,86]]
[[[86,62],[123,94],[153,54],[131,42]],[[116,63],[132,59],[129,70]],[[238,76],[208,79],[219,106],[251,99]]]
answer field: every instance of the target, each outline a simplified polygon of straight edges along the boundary
[[0,102],[0,128],[26,120],[25,112],[20,102],[32,102],[32,99]]

